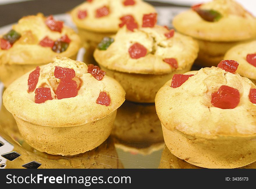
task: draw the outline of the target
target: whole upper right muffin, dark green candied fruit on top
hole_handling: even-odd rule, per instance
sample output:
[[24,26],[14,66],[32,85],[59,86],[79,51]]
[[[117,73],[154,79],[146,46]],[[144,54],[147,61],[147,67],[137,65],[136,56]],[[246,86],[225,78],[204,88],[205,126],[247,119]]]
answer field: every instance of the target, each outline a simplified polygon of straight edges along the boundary
[[173,26],[198,41],[201,66],[217,66],[232,46],[256,37],[255,17],[234,0],[192,6],[173,19]]

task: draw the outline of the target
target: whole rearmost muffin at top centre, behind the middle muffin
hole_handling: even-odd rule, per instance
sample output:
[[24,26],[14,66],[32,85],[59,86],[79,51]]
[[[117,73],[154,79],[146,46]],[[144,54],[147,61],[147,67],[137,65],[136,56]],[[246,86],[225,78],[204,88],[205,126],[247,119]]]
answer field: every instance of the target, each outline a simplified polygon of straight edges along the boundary
[[97,44],[105,36],[115,34],[126,15],[132,15],[141,25],[144,14],[155,12],[153,6],[142,0],[91,0],[75,7],[70,14],[86,48],[84,61],[93,60]]

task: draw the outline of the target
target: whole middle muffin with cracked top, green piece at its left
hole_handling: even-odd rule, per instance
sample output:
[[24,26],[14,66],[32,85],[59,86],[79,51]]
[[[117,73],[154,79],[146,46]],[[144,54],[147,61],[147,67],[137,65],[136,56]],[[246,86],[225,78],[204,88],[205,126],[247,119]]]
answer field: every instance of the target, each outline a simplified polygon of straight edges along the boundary
[[155,25],[156,17],[143,19],[144,26],[134,31],[122,27],[94,52],[97,63],[123,86],[129,101],[154,103],[164,83],[174,74],[188,72],[197,57],[197,42]]

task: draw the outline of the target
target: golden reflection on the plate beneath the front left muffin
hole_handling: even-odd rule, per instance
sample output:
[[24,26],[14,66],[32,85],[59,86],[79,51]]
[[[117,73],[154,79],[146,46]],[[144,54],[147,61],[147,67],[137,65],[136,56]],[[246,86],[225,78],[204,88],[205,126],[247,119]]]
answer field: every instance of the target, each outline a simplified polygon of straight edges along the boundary
[[22,165],[31,161],[36,161],[42,165],[39,168],[60,169],[60,168],[79,168],[79,169],[106,169],[106,168],[123,168],[118,159],[113,139],[108,138],[99,147],[87,151],[83,154],[74,156],[51,155],[40,152],[23,142],[22,147],[15,144],[14,150],[22,156],[14,161],[7,161],[6,168],[22,168]]

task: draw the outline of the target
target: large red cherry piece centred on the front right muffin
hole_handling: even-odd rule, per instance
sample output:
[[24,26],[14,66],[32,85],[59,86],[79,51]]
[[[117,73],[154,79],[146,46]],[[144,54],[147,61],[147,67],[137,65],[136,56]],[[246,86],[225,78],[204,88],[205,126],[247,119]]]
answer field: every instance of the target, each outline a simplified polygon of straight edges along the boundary
[[217,92],[211,94],[211,104],[217,108],[233,109],[239,101],[239,91],[227,85],[222,85]]

